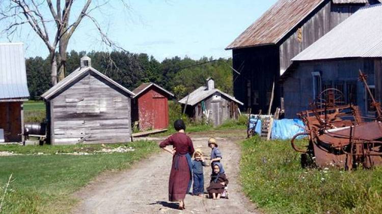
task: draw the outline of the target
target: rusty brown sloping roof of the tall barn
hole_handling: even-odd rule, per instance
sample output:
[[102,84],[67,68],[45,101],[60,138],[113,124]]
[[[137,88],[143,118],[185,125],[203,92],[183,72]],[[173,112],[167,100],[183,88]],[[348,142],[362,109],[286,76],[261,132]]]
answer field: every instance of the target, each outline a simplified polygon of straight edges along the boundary
[[323,2],[328,0],[280,0],[226,49],[276,44]]

